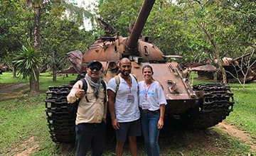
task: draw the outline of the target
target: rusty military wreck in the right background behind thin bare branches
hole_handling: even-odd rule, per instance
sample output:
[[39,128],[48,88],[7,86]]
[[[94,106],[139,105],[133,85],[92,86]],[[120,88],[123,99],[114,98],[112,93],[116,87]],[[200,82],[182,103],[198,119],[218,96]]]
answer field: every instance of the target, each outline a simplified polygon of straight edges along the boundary
[[[254,52],[247,53],[235,59],[230,57],[223,57],[222,66],[227,74],[227,81],[229,83],[245,81],[245,83],[253,82],[256,79],[255,65],[256,61],[250,63],[250,57]],[[218,62],[217,59],[214,60],[215,63]],[[222,80],[223,75],[220,73],[220,69],[215,68],[208,62],[193,62],[193,63],[182,63],[182,69],[188,69],[198,72],[198,77],[203,77],[204,79],[218,79]]]

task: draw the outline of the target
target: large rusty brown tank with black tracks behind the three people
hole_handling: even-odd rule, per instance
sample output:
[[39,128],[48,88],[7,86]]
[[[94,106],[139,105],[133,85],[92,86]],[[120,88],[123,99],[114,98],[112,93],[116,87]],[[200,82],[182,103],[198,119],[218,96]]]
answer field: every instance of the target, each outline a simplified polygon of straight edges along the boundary
[[[233,93],[225,84],[198,84],[188,82],[189,71],[183,70],[178,62],[168,62],[148,36],[141,38],[146,19],[155,0],[145,0],[134,25],[129,26],[131,35],[113,35],[114,29],[105,21],[106,35],[95,41],[85,52],[75,50],[68,53],[72,68],[63,73],[78,73],[78,79],[85,76],[87,63],[102,62],[102,79],[106,82],[118,74],[118,62],[123,57],[132,60],[132,74],[142,81],[142,67],[151,65],[154,79],[161,82],[168,104],[166,118],[175,118],[188,128],[208,128],[223,121],[233,111]],[[70,89],[78,79],[64,86],[48,87],[46,92],[46,116],[50,135],[55,143],[69,143],[75,140],[75,118],[68,116],[67,99]],[[111,122],[109,122],[111,124]]]

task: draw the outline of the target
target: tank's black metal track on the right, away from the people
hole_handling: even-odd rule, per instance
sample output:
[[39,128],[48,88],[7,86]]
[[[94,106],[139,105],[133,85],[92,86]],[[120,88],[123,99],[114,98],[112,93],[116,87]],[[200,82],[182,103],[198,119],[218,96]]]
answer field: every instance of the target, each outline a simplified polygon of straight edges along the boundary
[[222,122],[233,111],[233,92],[225,84],[198,84],[193,86],[201,92],[198,106],[181,115],[188,128],[208,128]]

